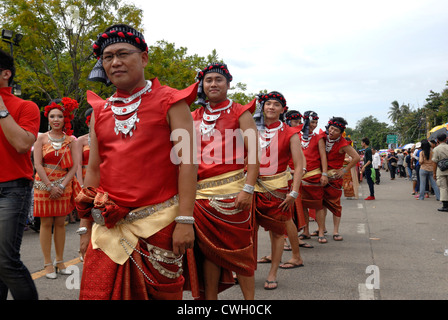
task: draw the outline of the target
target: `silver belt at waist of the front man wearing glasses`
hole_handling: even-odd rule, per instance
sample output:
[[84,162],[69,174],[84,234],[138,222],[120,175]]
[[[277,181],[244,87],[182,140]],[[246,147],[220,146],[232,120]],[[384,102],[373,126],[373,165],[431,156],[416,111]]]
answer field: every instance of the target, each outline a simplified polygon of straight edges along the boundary
[[[144,219],[146,217],[153,215],[156,212],[162,211],[163,209],[167,209],[171,206],[177,205],[178,203],[179,203],[179,196],[175,195],[171,199],[168,199],[164,202],[154,204],[151,206],[146,206],[137,211],[129,212],[126,215],[126,217],[124,217],[122,220],[117,222],[117,225],[132,223],[134,221]],[[102,211],[100,209],[93,208],[91,210],[91,213],[92,213],[93,221],[95,221],[95,223],[99,224],[100,226],[105,225],[104,217],[103,217]]]

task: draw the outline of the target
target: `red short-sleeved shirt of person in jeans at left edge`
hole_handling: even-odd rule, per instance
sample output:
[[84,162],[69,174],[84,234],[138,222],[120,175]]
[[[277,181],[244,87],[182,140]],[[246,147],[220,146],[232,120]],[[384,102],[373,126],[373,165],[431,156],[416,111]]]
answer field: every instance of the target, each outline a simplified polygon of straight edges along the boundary
[[[0,96],[8,109],[10,116],[25,131],[37,138],[40,126],[39,108],[34,102],[22,100],[11,94],[11,88],[0,88]],[[9,143],[0,126],[0,182],[26,178],[33,180],[33,164],[31,149],[25,154],[19,154]]]

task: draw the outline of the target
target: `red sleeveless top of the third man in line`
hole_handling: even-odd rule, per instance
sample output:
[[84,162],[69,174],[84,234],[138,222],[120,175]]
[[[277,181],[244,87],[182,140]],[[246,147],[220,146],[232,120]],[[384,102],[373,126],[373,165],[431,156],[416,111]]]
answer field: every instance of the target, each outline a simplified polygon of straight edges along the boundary
[[[280,121],[268,126],[276,128]],[[291,159],[290,140],[297,131],[287,125],[277,131],[269,147],[262,149],[260,158],[260,175],[268,176],[285,172]]]

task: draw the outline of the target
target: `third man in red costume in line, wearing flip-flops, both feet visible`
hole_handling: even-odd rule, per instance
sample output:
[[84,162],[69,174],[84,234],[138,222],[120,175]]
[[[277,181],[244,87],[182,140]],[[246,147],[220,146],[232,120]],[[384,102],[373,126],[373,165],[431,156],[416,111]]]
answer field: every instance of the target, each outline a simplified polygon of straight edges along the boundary
[[270,232],[271,268],[264,289],[274,290],[278,286],[277,271],[286,233],[291,241],[292,257],[280,267],[294,269],[303,266],[297,228],[292,220],[302,172],[298,170],[294,173],[290,187],[291,174],[287,171],[290,159],[294,167],[303,168],[303,155],[297,130],[281,121],[288,109],[284,96],[276,91],[260,94],[259,102],[259,111],[254,115],[262,149],[260,176],[255,188],[256,218],[258,224]]

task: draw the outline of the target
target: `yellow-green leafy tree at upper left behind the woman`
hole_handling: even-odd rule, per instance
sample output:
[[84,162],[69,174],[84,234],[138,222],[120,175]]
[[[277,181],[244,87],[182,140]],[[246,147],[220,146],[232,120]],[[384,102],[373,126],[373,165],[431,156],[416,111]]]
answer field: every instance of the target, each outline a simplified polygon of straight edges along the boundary
[[1,27],[24,36],[15,54],[24,98],[43,107],[68,96],[80,102],[78,115],[87,108],[87,89],[110,91],[87,81],[94,64],[92,40],[116,23],[142,28],[142,11],[121,0],[0,0],[0,7],[8,17]]

